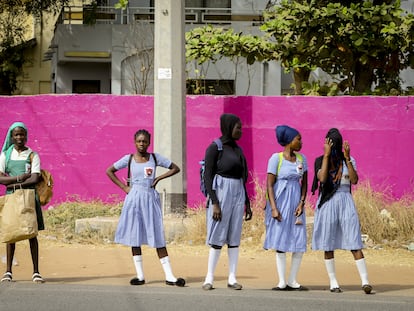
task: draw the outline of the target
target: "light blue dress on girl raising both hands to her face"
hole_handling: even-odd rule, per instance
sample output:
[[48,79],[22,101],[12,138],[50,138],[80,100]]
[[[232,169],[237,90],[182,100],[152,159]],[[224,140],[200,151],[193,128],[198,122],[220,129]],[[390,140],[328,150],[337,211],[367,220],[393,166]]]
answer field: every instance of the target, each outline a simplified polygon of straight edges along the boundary
[[[356,170],[355,159],[351,162]],[[315,209],[312,249],[333,251],[336,249],[361,249],[361,229],[346,163],[342,165],[342,178],[338,190],[320,208]],[[316,206],[319,205],[319,196]]]

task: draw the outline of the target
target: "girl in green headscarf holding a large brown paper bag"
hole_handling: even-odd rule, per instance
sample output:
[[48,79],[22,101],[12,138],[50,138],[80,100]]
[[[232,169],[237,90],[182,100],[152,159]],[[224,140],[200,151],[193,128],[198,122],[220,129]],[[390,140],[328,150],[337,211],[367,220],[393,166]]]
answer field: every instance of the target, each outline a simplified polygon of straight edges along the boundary
[[[27,142],[27,127],[22,122],[13,123],[7,131],[2,152],[0,154],[0,184],[7,188],[7,193],[12,193],[16,186],[33,189],[40,178],[40,159],[33,152]],[[31,154],[33,154],[32,159]],[[44,229],[42,209],[36,196],[36,214],[38,230]],[[33,262],[32,280],[35,283],[43,283],[44,280],[39,273],[39,246],[37,237],[29,239],[30,252]],[[1,282],[10,282],[13,279],[12,263],[15,243],[7,243],[7,269]]]

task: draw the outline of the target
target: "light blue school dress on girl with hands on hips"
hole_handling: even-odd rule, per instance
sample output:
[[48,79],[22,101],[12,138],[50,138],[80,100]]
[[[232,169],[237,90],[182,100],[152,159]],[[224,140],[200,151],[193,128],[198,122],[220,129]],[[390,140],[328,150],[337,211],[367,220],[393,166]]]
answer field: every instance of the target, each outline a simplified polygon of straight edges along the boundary
[[[119,170],[128,167],[130,155],[125,155],[114,163]],[[157,165],[169,168],[171,160],[155,154]],[[131,247],[147,244],[154,248],[165,246],[164,226],[159,193],[151,188],[155,179],[156,164],[154,154],[148,162],[137,163],[131,160],[130,186],[126,195],[115,233],[115,243]]]

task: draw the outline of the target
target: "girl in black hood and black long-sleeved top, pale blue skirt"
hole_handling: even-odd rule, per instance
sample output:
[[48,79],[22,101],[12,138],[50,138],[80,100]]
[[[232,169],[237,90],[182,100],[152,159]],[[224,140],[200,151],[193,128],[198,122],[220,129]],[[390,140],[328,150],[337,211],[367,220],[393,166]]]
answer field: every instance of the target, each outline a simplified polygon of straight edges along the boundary
[[[210,245],[208,270],[204,290],[213,289],[214,271],[224,244],[228,247],[229,277],[227,287],[242,289],[237,282],[236,270],[243,223],[252,218],[250,201],[246,192],[248,176],[246,158],[236,141],[241,137],[242,124],[234,114],[220,117],[223,150],[216,143],[206,150],[204,181],[209,197],[207,209],[207,241]],[[246,208],[245,208],[246,207]]]

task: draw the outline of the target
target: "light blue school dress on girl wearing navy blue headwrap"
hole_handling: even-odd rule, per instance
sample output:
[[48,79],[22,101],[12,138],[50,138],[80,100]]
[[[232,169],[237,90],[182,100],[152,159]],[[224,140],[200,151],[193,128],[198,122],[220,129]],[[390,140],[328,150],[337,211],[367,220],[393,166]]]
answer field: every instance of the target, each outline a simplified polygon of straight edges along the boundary
[[[272,217],[272,208],[270,202],[267,201],[265,208],[266,237],[263,247],[282,252],[305,252],[305,211],[297,219],[295,210],[301,197],[300,179],[303,173],[308,170],[306,157],[302,155],[302,162],[297,160],[296,163],[282,160],[279,172],[277,172],[278,165],[279,154],[275,153],[268,161],[267,173],[277,175],[273,191],[276,207],[282,215],[282,221],[279,222]],[[300,220],[302,224],[295,225],[297,220]]]

